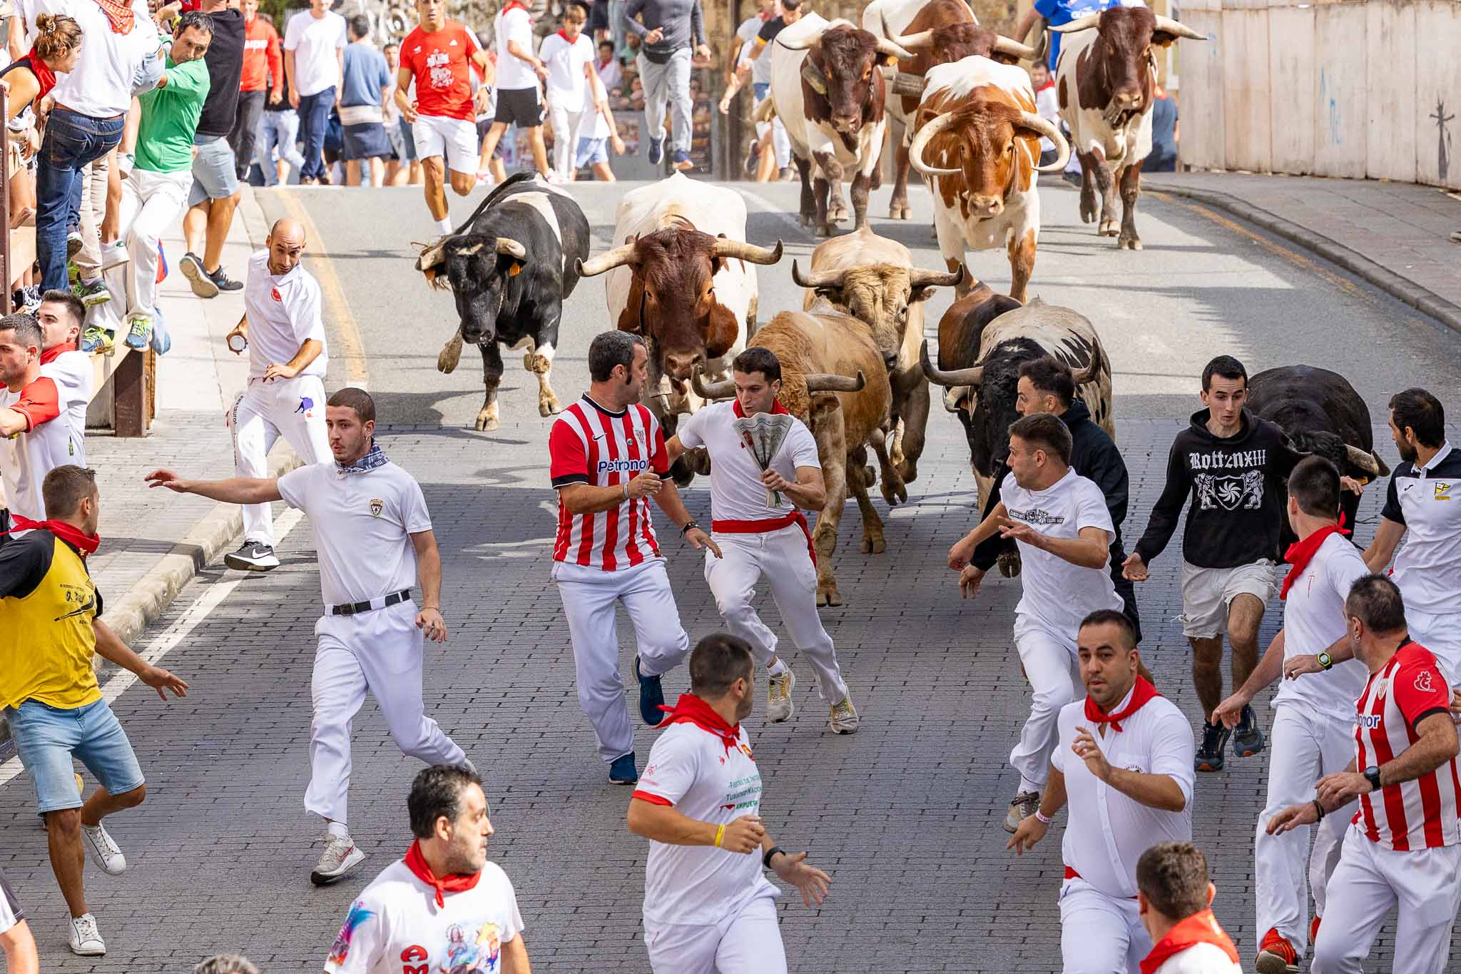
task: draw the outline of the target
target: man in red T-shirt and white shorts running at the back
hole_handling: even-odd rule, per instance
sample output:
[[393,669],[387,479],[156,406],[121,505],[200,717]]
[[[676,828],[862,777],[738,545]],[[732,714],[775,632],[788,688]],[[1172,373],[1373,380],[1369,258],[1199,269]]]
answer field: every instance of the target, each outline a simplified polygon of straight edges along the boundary
[[[396,72],[396,107],[411,124],[416,155],[425,172],[427,209],[437,229],[451,232],[447,210],[447,169],[451,191],[466,196],[476,187],[476,112],[489,92],[472,96],[472,69],[487,72],[487,51],[476,35],[447,19],[446,0],[416,0],[416,29],[400,42]],[[411,83],[416,101],[411,101]]]

